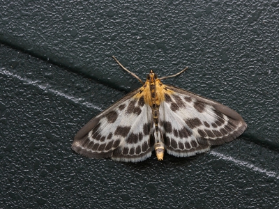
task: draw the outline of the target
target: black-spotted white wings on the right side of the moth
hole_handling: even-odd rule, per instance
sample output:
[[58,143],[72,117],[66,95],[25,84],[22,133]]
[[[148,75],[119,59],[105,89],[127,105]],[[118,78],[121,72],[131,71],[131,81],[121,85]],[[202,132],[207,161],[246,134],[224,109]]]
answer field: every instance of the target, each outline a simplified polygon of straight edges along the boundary
[[246,130],[243,118],[223,104],[181,88],[167,86],[159,109],[159,128],[167,153],[186,157],[239,137]]

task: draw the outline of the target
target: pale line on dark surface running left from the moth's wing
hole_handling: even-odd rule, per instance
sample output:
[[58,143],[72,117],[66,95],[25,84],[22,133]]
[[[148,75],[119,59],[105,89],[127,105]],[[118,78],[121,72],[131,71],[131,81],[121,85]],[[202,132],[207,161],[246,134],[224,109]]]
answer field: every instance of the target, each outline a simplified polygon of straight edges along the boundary
[[52,93],[54,93],[54,95],[59,95],[63,98],[66,98],[67,100],[71,100],[71,101],[75,102],[76,104],[83,104],[86,107],[102,110],[100,107],[98,107],[98,106],[96,106],[92,103],[82,102],[83,99],[81,99],[81,98],[75,98],[73,95],[67,95],[66,93],[63,93],[61,91],[57,91],[57,90],[55,90],[55,88],[53,88],[50,85],[38,84],[40,81],[33,81],[29,78],[21,77],[20,75],[17,75],[13,72],[5,70],[4,68],[0,68],[0,74],[10,76],[10,77],[15,77],[15,78],[19,79],[20,81],[24,82],[24,84],[29,84],[29,85],[32,85],[32,86],[36,86],[36,87],[38,87],[38,88],[40,88],[44,91],[52,92]]

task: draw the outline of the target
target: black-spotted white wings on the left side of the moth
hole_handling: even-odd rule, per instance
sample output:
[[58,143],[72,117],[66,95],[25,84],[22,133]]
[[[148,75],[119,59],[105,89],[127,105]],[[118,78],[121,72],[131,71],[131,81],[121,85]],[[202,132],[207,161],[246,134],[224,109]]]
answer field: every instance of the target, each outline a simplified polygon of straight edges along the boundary
[[129,93],[77,132],[72,148],[86,157],[138,162],[151,156],[151,108]]

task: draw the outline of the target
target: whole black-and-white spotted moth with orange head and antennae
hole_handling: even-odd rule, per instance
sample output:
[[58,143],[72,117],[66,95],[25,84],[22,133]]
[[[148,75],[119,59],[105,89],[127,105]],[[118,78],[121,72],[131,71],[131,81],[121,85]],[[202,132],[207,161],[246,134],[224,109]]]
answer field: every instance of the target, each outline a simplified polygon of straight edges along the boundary
[[72,149],[86,157],[140,162],[155,150],[163,160],[169,155],[187,157],[204,153],[211,145],[232,141],[246,130],[234,110],[190,91],[165,85],[153,70],[146,82],[115,61],[142,83],[101,112],[77,132]]

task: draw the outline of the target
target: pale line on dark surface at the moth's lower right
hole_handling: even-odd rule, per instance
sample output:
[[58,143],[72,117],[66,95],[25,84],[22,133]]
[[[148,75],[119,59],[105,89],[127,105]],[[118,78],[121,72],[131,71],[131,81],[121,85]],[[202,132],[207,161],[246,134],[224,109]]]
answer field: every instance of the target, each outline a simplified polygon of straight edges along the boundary
[[279,179],[278,173],[273,172],[273,171],[267,171],[266,169],[261,169],[261,168],[255,166],[254,164],[250,164],[249,162],[245,162],[243,160],[236,160],[234,157],[226,156],[226,155],[223,155],[221,153],[217,153],[217,152],[212,151],[212,150],[209,154],[211,154],[213,156],[216,156],[216,157],[220,157],[220,158],[222,158],[224,160],[227,160],[227,161],[230,161],[230,162],[234,162],[235,164],[241,165],[243,167],[247,167],[248,169],[251,169],[253,171],[257,171],[259,173],[264,173],[264,174],[266,174],[266,176],[275,177],[275,178]]

